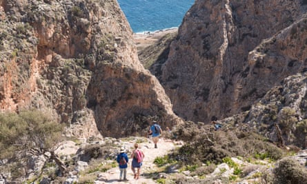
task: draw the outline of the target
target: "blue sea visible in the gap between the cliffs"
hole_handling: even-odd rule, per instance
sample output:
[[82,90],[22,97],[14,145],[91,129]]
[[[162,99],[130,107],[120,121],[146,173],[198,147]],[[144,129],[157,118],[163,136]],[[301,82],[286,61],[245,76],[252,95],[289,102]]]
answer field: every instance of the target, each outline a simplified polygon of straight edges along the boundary
[[117,0],[135,33],[177,28],[195,0]]

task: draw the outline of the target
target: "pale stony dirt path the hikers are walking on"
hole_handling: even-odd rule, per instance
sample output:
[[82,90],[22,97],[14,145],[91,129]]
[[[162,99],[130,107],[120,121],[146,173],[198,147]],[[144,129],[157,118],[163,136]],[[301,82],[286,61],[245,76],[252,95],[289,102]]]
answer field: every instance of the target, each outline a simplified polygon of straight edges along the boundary
[[[134,143],[130,142],[130,145],[126,145],[126,147],[132,147]],[[104,173],[104,177],[108,178],[108,181],[103,183],[156,183],[152,178],[148,178],[147,176],[150,175],[152,172],[156,172],[159,168],[153,163],[153,161],[157,158],[157,156],[164,156],[168,154],[171,150],[173,150],[176,146],[175,143],[172,143],[170,140],[160,139],[159,143],[157,144],[158,148],[154,148],[154,144],[150,139],[145,143],[139,143],[139,147],[143,150],[145,154],[145,158],[143,159],[143,165],[141,167],[141,176],[138,180],[133,178],[133,172],[131,170],[131,162],[132,159],[129,158],[129,165],[127,168],[127,179],[128,181],[121,181],[119,182],[119,168],[115,167],[108,172]],[[129,154],[130,156],[130,154]],[[95,182],[96,183],[96,182]]]

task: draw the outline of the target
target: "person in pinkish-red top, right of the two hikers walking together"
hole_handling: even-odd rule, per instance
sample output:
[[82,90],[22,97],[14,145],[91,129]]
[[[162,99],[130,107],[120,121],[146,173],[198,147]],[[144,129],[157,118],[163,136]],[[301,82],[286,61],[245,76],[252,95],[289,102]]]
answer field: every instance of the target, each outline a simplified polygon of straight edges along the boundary
[[[131,164],[131,170],[133,174],[135,175],[135,179],[139,178],[139,173],[141,171],[141,165],[143,164],[143,159],[145,155],[142,152],[142,150],[139,150],[139,145],[135,143],[135,150],[132,151],[131,158],[132,158],[132,164]],[[135,168],[137,168],[137,172],[135,172]]]

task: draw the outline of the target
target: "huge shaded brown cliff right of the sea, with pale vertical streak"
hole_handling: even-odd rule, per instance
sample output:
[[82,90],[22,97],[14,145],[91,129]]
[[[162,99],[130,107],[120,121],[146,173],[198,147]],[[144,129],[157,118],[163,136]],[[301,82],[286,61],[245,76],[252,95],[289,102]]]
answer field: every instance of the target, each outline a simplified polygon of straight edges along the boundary
[[306,61],[304,1],[195,1],[157,76],[173,110],[208,122],[248,110]]

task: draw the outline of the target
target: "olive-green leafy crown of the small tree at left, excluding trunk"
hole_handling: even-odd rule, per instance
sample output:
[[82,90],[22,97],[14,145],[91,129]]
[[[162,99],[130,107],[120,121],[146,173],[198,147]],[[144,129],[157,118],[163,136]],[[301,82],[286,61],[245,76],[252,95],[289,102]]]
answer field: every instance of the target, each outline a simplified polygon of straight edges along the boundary
[[12,158],[18,150],[50,151],[63,140],[63,125],[38,110],[0,114],[0,122],[0,149],[8,153],[0,159]]

